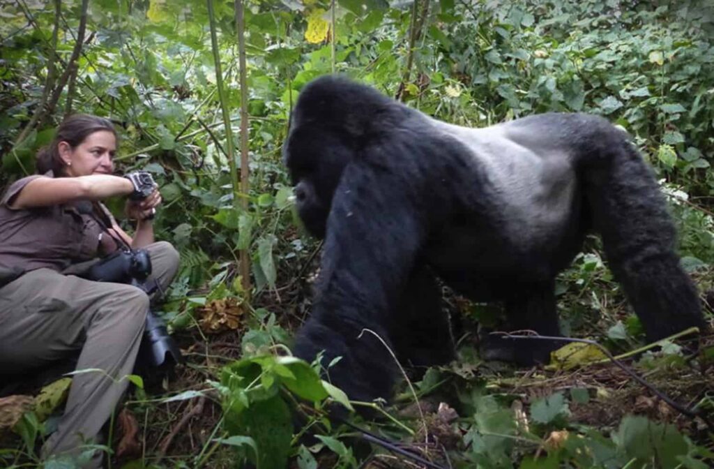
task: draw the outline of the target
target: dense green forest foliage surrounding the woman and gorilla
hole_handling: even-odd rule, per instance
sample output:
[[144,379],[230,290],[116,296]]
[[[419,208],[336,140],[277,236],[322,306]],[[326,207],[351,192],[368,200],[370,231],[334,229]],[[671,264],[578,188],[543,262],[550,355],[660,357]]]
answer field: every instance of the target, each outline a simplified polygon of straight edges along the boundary
[[[236,21],[241,5],[243,24]],[[290,344],[288,331],[309,310],[304,279],[319,246],[296,223],[280,157],[291,105],[321,74],[348,74],[472,127],[548,111],[612,119],[635,136],[670,195],[685,266],[703,291],[713,282],[714,8],[707,0],[18,0],[0,2],[0,17],[0,183],[34,172],[34,154],[64,115],[109,117],[121,136],[119,169],[154,173],[165,200],[158,235],[181,252],[164,317],[198,355],[188,369],[200,371],[159,393],[180,393],[174,405],[208,397],[218,416],[199,420],[208,425],[203,430],[193,427],[201,449],[186,449],[196,448],[186,439],[172,453],[183,456],[169,463],[160,461],[166,448],[145,448],[128,467],[229,467],[240,458],[259,468],[288,458],[298,468],[357,467],[368,458],[368,467],[398,464],[373,455],[376,447],[352,447],[354,431],[324,426],[319,413],[303,428],[318,429],[317,439],[293,437],[295,396],[348,403],[310,367],[272,355]],[[248,147],[240,130],[246,122]],[[237,177],[241,151],[247,190]],[[638,323],[591,244],[560,280],[564,332],[593,336],[613,352],[636,348]],[[251,261],[252,285],[245,271],[241,277],[241,256]],[[472,319],[493,313],[458,298],[451,303]],[[208,350],[218,342],[233,343],[237,353],[213,357]],[[446,454],[453,467],[482,468],[714,463],[706,449],[713,429],[660,411],[637,385],[625,393],[618,382],[627,377],[611,367],[511,377],[513,370],[481,367],[471,336],[460,343],[459,364],[427,372],[401,407],[416,395],[438,395],[461,418],[424,410],[361,425],[411,441],[444,467]],[[709,343],[694,360],[700,370],[712,370],[713,350]],[[711,414],[714,383],[691,361],[669,342],[633,366]],[[149,421],[156,399],[139,389],[129,408],[158,427],[176,425],[178,409],[187,412],[176,407]],[[621,418],[633,409],[640,415]],[[0,453],[8,465],[35,458],[29,428],[41,433],[42,425],[24,420],[24,443]]]

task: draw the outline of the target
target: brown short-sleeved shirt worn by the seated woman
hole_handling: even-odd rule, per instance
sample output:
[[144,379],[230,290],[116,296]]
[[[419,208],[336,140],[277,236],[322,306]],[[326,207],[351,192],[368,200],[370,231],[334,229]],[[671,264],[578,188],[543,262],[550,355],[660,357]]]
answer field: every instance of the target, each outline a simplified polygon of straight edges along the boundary
[[[47,174],[51,176],[51,173]],[[61,271],[97,255],[102,229],[88,202],[11,209],[19,192],[39,174],[11,184],[0,198],[0,285],[2,277],[49,267]],[[89,205],[88,209],[83,209]]]

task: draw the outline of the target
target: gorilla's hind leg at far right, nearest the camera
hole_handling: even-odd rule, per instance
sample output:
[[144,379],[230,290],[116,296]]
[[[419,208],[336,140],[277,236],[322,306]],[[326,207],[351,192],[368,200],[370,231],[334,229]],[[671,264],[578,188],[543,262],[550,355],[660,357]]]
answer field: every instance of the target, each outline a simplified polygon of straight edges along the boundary
[[610,267],[648,339],[703,327],[697,291],[675,254],[675,227],[653,174],[622,135],[601,140],[610,147],[585,165],[585,194]]

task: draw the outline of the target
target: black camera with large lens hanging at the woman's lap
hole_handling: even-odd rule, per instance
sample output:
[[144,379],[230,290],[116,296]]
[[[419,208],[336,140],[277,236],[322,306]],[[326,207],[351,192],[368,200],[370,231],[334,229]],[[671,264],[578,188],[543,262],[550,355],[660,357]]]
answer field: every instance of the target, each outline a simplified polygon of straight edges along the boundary
[[[151,275],[151,257],[146,250],[118,250],[94,264],[82,277],[97,282],[129,283],[151,295],[156,285],[147,285]],[[154,367],[172,367],[182,363],[181,350],[169,335],[160,317],[149,311],[139,357]]]

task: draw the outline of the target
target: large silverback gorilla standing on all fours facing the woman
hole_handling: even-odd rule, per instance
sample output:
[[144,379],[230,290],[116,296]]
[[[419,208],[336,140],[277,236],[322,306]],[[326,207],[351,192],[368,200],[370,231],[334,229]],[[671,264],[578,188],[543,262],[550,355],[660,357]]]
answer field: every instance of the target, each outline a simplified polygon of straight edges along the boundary
[[[560,335],[554,279],[590,230],[650,340],[703,327],[675,229],[628,135],[600,117],[542,114],[483,129],[439,122],[326,76],[291,115],[283,157],[298,214],[324,238],[313,312],[294,351],[353,400],[391,395],[401,360],[452,356],[441,278],[500,301],[504,330]],[[562,345],[562,344],[560,344]],[[544,362],[556,344],[489,336],[487,358]]]

